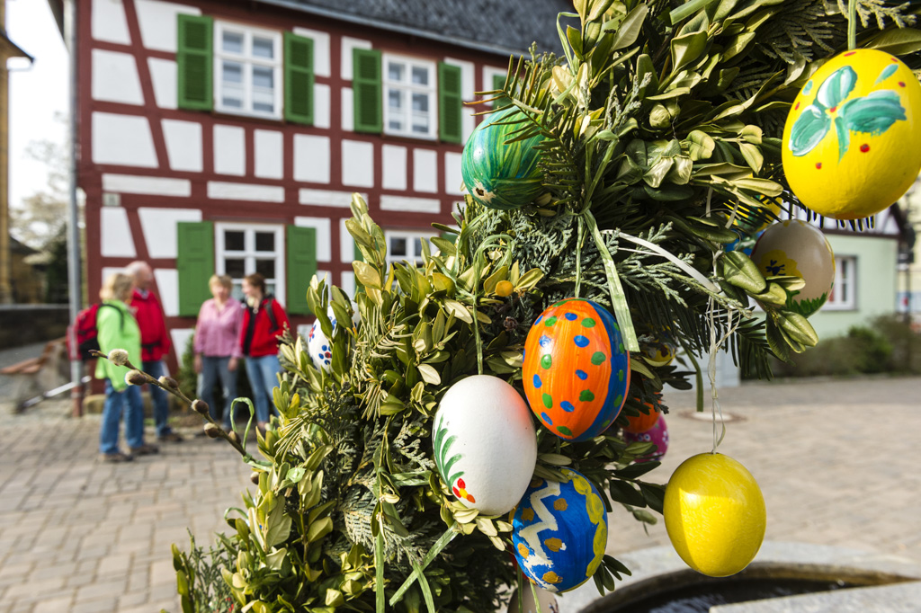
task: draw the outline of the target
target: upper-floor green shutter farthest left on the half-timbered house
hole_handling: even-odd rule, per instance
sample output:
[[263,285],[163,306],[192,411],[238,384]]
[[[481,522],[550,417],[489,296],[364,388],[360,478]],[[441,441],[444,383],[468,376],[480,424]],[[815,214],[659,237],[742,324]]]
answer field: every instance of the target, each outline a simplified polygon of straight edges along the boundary
[[179,75],[177,89],[179,108],[211,110],[214,107],[214,97],[211,93],[214,86],[212,19],[211,17],[183,14],[177,18],[179,22],[176,64],[177,75]]

